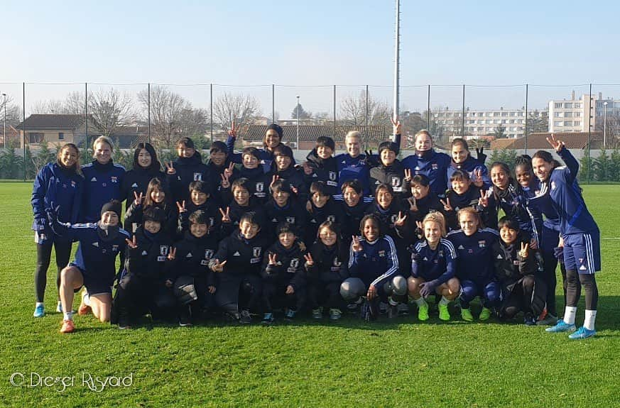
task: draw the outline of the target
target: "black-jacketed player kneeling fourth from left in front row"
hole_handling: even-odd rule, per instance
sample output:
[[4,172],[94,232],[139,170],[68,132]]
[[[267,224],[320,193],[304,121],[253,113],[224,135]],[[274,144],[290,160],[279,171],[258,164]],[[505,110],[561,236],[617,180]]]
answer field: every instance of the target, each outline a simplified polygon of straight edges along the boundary
[[[259,309],[261,304],[261,264],[263,252],[269,245],[259,233],[261,222],[264,221],[252,211],[241,216],[239,231],[219,243],[217,253],[209,263],[211,270],[216,272],[217,306],[245,324],[252,322],[250,310]],[[241,299],[239,292],[243,294]]]

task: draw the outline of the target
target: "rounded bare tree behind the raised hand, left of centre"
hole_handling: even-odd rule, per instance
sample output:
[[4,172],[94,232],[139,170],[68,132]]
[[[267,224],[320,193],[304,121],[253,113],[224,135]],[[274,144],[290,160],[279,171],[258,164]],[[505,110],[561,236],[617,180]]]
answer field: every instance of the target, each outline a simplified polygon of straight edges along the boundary
[[233,120],[236,126],[244,128],[254,121],[256,116],[261,116],[261,105],[249,95],[224,92],[213,104],[214,123],[224,131],[228,131]]

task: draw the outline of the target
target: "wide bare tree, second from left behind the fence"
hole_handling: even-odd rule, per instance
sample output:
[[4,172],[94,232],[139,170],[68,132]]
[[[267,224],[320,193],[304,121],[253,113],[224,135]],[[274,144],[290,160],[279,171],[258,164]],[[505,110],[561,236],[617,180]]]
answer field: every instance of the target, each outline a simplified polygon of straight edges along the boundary
[[[148,91],[138,94],[143,119],[148,120]],[[171,148],[178,138],[204,135],[208,112],[193,109],[189,101],[167,87],[151,87],[151,139],[164,148]]]

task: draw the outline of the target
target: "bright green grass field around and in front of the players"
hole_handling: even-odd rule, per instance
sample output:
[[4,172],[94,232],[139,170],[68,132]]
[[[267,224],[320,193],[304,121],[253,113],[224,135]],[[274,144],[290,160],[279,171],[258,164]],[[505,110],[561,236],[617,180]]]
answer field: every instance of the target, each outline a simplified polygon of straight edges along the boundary
[[[586,341],[523,324],[445,324],[436,315],[425,324],[413,316],[375,324],[347,317],[337,324],[125,331],[76,316],[77,331],[62,335],[51,270],[48,314],[32,317],[30,192],[30,183],[0,183],[1,407],[620,406],[618,186],[584,187],[603,253],[599,332]],[[561,292],[558,301],[562,309]],[[582,297],[578,324],[583,310]],[[65,380],[65,390],[58,383],[14,386],[13,373],[23,373],[26,385],[31,373],[73,380]],[[132,382],[103,390],[95,383],[94,391],[82,381],[89,375],[112,376],[113,385],[114,377],[131,375]]]

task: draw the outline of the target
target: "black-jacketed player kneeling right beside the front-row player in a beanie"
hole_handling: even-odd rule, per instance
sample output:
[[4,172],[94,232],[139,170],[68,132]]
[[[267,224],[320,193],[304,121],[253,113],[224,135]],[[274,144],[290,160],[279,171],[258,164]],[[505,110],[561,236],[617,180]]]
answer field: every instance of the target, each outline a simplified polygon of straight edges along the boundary
[[141,226],[128,239],[125,270],[112,302],[112,324],[128,329],[141,314],[161,319],[175,307],[175,298],[165,285],[172,267],[172,241],[163,230],[165,211],[156,206],[144,210]]

